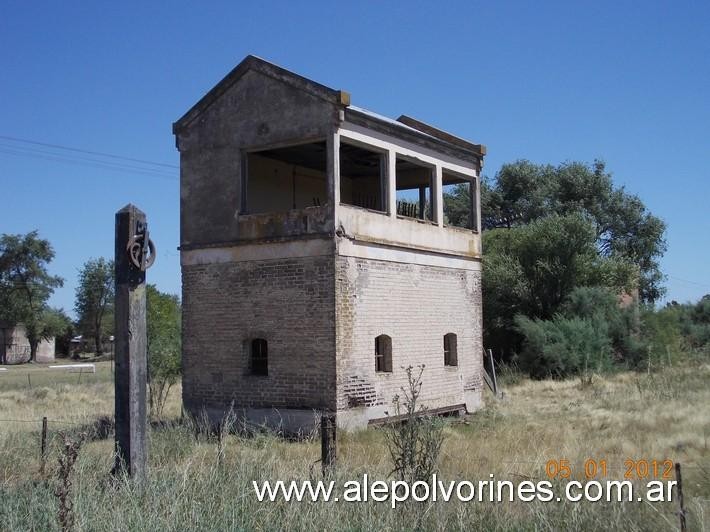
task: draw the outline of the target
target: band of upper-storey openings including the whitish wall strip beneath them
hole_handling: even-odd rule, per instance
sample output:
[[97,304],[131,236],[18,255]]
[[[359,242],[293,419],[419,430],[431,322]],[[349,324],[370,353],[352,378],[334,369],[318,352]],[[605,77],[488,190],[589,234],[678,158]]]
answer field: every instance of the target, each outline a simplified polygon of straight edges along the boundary
[[342,227],[401,247],[480,251],[469,242],[480,224],[478,172],[431,151],[343,129],[332,139],[245,151],[242,175],[241,239]]

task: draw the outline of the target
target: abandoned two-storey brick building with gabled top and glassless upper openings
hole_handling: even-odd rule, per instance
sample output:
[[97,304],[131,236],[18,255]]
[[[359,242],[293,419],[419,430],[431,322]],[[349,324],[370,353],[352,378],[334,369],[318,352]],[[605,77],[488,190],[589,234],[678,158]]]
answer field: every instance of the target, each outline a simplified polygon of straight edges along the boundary
[[480,405],[485,147],[252,56],[173,131],[190,411],[362,427],[420,364],[427,407]]

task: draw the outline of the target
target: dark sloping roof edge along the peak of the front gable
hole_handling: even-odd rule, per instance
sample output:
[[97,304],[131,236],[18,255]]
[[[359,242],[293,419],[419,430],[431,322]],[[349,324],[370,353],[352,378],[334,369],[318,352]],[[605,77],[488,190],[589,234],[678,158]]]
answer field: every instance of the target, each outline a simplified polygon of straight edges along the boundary
[[248,55],[234,69],[227,74],[222,81],[217,83],[210,91],[205,94],[200,101],[193,105],[190,110],[173,124],[173,133],[178,133],[185,128],[190,122],[201,115],[212,103],[215,102],[222,94],[224,94],[232,85],[239,81],[244,74],[254,70],[260,72],[273,79],[282,81],[293,87],[308,92],[313,96],[322,98],[335,105],[347,106],[350,105],[350,95],[345,91],[331,89],[313,80],[299,76],[285,68],[270,63],[260,57]]

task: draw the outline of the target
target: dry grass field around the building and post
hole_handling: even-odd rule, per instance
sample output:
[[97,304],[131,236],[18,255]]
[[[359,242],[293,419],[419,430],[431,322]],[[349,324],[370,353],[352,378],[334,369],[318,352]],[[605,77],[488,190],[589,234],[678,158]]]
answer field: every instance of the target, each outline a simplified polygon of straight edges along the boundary
[[[27,373],[31,372],[32,388]],[[13,367],[0,374],[0,529],[55,530],[54,478],[39,470],[39,428],[50,420],[50,465],[60,430],[83,430],[113,410],[108,363],[97,373],[52,374]],[[574,476],[587,459],[606,460],[621,479],[624,460],[683,464],[689,530],[710,528],[710,365],[697,362],[650,374],[578,380],[516,379],[505,397],[445,428],[440,478],[545,479],[548,460],[569,460]],[[179,390],[167,416],[177,418]],[[12,420],[12,421],[8,421]],[[386,479],[381,431],[340,433],[337,482]],[[271,435],[230,436],[219,460],[213,439],[175,423],[150,433],[150,478],[143,489],[109,482],[113,441],[82,448],[74,473],[77,530],[673,530],[673,503],[387,503],[258,502],[253,480],[317,479],[317,441]],[[560,484],[556,483],[559,488]]]

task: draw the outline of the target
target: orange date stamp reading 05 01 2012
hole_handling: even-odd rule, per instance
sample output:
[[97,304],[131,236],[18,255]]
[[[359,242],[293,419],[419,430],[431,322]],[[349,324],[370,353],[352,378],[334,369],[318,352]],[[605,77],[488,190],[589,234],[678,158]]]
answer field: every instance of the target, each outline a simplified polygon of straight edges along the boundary
[[[632,460],[627,458],[623,462],[624,479],[628,480],[670,480],[673,474],[673,460]],[[550,479],[587,479],[608,477],[617,468],[612,467],[605,459],[594,460],[588,458],[582,468],[574,467],[569,460],[548,460],[545,464],[545,474]]]

